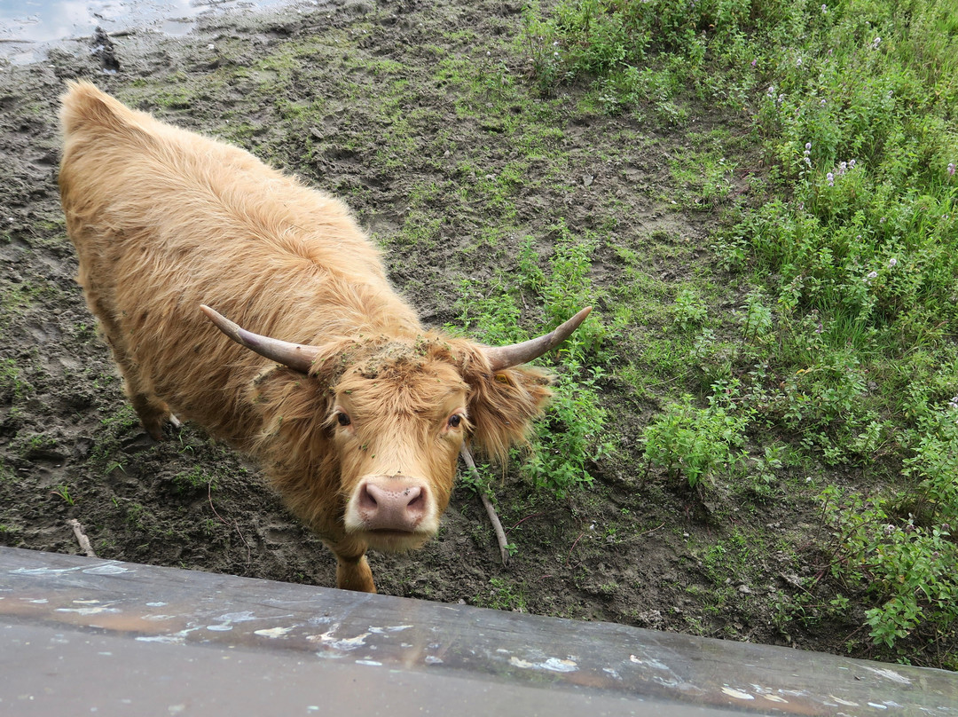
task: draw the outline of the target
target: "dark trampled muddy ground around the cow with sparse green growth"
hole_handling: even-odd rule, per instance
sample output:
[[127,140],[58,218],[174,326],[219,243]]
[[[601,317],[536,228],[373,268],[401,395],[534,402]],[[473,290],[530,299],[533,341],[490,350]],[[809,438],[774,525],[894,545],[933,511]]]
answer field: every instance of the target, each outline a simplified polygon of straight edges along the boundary
[[[415,79],[441,60],[460,68],[490,62],[486,48],[511,42],[520,24],[520,7],[511,2],[353,2],[217,18],[184,38],[114,37],[115,74],[104,74],[102,58],[85,45],[34,65],[0,66],[0,542],[79,553],[67,524],[76,518],[103,558],[334,584],[331,555],[287,514],[256,466],[191,426],[154,443],[126,405],[74,281],[77,261],[58,204],[56,115],[64,81],[95,81],[127,103],[236,141],[345,197],[386,247],[397,287],[428,324],[441,326],[457,321],[464,279],[481,285],[496,270],[510,270],[521,237],[478,241],[495,211],[465,191],[437,193],[429,241],[390,237],[408,228],[410,193],[423,180],[440,187],[475,181],[455,158],[468,155],[490,174],[507,165],[508,146],[499,149],[496,137],[510,112],[524,110],[507,107],[500,116],[490,105],[490,116],[476,119],[457,105],[456,81],[426,91]],[[297,43],[311,43],[312,55],[291,52]],[[494,59],[503,81],[508,76],[535,104],[533,88],[522,90],[521,55]],[[366,127],[382,123],[382,113],[364,104],[377,84],[376,72],[363,67],[374,62],[394,73],[411,68],[410,95],[397,100],[396,119]],[[354,78],[352,98],[333,89],[344,76]],[[271,82],[284,96],[265,102],[263,86]],[[395,91],[396,81],[389,86]],[[601,228],[614,207],[615,243],[648,257],[650,274],[677,282],[690,272],[716,272],[734,293],[738,279],[712,266],[707,250],[720,208],[676,202],[682,190],[670,161],[687,148],[690,128],[727,127],[734,136],[744,132],[741,119],[690,101],[680,126],[643,123],[638,115],[583,110],[581,91],[570,88],[565,104],[553,105],[563,163],[526,165],[529,181],[510,187],[511,221],[527,227],[547,256],[557,211],[579,232]],[[321,122],[303,124],[297,107],[315,106],[317,98],[326,102]],[[413,150],[390,162],[388,143],[405,120],[400,139]],[[622,252],[609,245],[601,243],[593,257],[596,287],[628,281]],[[610,315],[604,301],[599,297],[599,309]],[[530,325],[541,317],[540,307],[525,311]],[[642,357],[646,339],[666,323],[637,320],[616,338],[621,353]],[[663,386],[668,392],[666,378]],[[827,536],[811,492],[750,505],[720,490],[705,499],[690,493],[647,471],[638,439],[658,400],[614,378],[600,387],[615,451],[589,466],[596,478],[589,490],[537,492],[514,465],[497,484],[516,546],[508,567],[499,564],[478,499],[460,488],[437,540],[415,553],[371,555],[379,590],[880,657],[862,639],[860,611],[815,617],[836,588],[827,575],[812,580],[822,572]],[[796,606],[814,619],[794,619]]]

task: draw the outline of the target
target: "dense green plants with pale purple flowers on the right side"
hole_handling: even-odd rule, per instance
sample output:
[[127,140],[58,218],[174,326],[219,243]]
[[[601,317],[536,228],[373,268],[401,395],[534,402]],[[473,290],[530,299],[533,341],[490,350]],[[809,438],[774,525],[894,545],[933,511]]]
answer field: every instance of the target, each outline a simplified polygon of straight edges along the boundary
[[[757,476],[774,474],[783,438],[826,482],[880,478],[878,496],[867,482],[822,500],[833,574],[866,594],[865,627],[901,659],[958,630],[956,29],[947,0],[565,0],[532,6],[520,40],[545,96],[584,83],[593,111],[682,126],[691,87],[744,118],[762,195],[714,248],[753,289],[731,341],[700,279],[675,294],[696,370],[721,380],[665,405],[647,456],[693,485],[767,488]],[[727,151],[699,137],[673,158],[683,204],[727,201],[740,161]],[[673,370],[672,345],[647,356],[653,370]]]

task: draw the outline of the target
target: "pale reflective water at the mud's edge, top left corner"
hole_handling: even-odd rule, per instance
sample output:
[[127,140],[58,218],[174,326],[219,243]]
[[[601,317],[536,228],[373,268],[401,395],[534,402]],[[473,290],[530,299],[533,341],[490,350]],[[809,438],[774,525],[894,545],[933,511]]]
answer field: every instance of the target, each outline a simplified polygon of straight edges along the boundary
[[0,0],[0,62],[26,64],[54,46],[71,52],[96,27],[109,34],[134,31],[187,35],[203,18],[225,12],[257,12],[303,0]]

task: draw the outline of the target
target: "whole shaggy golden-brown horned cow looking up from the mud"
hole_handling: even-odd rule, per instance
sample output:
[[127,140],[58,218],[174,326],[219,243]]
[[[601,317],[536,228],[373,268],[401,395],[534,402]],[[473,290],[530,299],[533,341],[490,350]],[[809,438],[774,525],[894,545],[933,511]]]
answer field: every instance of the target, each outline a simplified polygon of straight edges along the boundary
[[174,411],[259,460],[338,587],[376,590],[366,549],[435,535],[464,440],[524,439],[549,390],[519,364],[588,310],[509,347],[428,331],[338,200],[88,82],[62,101],[79,281],[144,427]]

